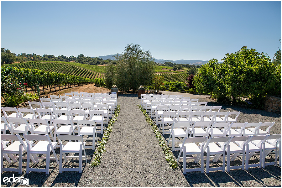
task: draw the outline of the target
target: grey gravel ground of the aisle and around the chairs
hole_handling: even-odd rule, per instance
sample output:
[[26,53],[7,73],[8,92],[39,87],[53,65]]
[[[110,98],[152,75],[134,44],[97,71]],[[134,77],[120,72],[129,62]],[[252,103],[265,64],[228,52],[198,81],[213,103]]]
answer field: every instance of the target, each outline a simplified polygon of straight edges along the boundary
[[[199,98],[199,101],[208,101],[209,106],[218,106],[216,102],[210,99]],[[24,159],[23,174],[18,175],[15,173],[15,176],[29,178],[29,186],[39,187],[281,186],[281,167],[275,167],[274,165],[262,169],[253,167],[244,171],[239,169],[230,172],[211,171],[209,174],[188,172],[183,175],[183,161],[180,160],[177,169],[170,169],[154,132],[136,106],[140,104],[137,94],[119,95],[118,104],[120,104],[118,121],[114,123],[111,138],[105,145],[106,152],[103,153],[101,165],[92,168],[89,162],[86,164],[85,160],[83,160],[81,174],[77,171],[64,171],[59,174],[59,165],[51,160],[49,175],[45,175],[44,172],[26,174],[26,160]],[[241,111],[238,122],[274,121],[275,124],[271,129],[271,134],[281,133],[280,114],[228,105],[222,105],[222,111]],[[100,139],[102,138],[102,135],[98,136],[100,136]],[[164,136],[167,141],[169,135],[165,134]],[[171,146],[170,144],[170,148]],[[55,151],[59,156],[59,148]],[[91,161],[93,153],[92,149],[86,149],[87,161]],[[179,151],[173,152],[175,157],[178,156],[178,153]],[[204,162],[206,164],[205,160]],[[258,162],[257,157],[252,157],[250,163],[256,162]],[[45,167],[44,161],[37,165],[30,164],[35,168]],[[191,164],[187,163],[187,165],[194,164],[193,162]],[[211,163],[211,165],[221,164],[220,161],[215,164]],[[236,162],[232,164],[234,165]],[[9,166],[7,161],[4,161],[4,165]],[[17,163],[13,165],[17,166]],[[76,167],[78,166],[78,160],[72,160],[67,165]],[[206,165],[204,165],[204,170],[206,171]],[[2,173],[2,177],[11,177],[12,175],[13,172]],[[1,184],[1,186],[7,186],[3,185],[3,178],[1,178]]]

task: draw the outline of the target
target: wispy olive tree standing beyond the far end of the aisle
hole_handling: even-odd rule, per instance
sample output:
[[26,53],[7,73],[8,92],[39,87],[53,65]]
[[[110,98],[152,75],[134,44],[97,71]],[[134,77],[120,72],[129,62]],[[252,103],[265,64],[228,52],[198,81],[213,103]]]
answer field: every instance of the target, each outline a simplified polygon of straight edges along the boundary
[[122,54],[114,57],[117,63],[113,82],[120,90],[135,92],[153,79],[156,63],[149,50],[144,51],[139,44],[128,44]]

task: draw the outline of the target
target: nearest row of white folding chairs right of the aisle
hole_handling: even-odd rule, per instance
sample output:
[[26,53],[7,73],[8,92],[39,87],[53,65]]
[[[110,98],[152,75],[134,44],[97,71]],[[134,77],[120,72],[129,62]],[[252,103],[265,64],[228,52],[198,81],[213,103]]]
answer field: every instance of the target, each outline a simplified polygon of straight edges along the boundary
[[[267,139],[271,138],[271,144],[267,143]],[[196,145],[199,143],[199,145]],[[201,171],[204,172],[203,163],[204,163],[204,152],[206,152],[206,173],[212,170],[225,170],[225,152],[227,152],[227,171],[230,169],[242,168],[248,170],[249,167],[259,166],[265,167],[266,165],[277,166],[277,154],[278,154],[278,145],[281,147],[281,135],[259,135],[259,136],[239,136],[239,137],[192,137],[183,139],[183,143],[179,144],[180,153],[177,158],[183,159],[183,173],[190,171]],[[275,162],[266,163],[266,156],[272,151],[275,150]],[[181,153],[183,152],[183,157],[180,158]],[[249,165],[249,159],[253,154],[257,152],[259,156],[259,163]],[[242,165],[230,166],[230,160],[234,161],[236,157],[242,153]],[[245,154],[246,153],[246,154]],[[196,157],[187,157],[187,155],[196,154]],[[233,155],[231,155],[233,154]],[[211,156],[214,155],[214,156]],[[279,148],[279,165],[280,165],[280,148]],[[246,157],[245,157],[246,156]],[[213,162],[217,162],[219,158],[222,158],[222,166],[210,168],[209,162],[210,157],[213,158]],[[195,163],[199,163],[201,159],[201,168],[198,169],[187,169],[186,159],[194,159]],[[246,162],[245,162],[246,160]]]

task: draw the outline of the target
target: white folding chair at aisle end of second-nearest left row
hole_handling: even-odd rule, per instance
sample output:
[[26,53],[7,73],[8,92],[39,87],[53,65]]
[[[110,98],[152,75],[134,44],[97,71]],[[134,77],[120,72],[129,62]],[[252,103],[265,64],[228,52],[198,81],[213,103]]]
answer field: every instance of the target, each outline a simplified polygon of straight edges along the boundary
[[[83,138],[83,140],[91,140],[91,146],[84,146],[85,148],[92,148],[95,149],[95,140],[98,143],[97,131],[96,131],[96,123],[92,120],[76,120],[74,121],[77,125],[78,135],[91,135],[92,139],[90,138]],[[88,126],[89,125],[89,126]]]

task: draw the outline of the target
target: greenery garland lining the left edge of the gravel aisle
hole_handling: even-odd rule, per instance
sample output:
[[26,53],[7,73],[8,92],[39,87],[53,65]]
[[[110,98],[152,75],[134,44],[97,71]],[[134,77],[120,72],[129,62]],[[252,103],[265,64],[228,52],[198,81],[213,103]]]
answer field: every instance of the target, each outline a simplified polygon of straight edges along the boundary
[[117,120],[118,113],[119,113],[119,107],[120,105],[117,106],[117,109],[115,110],[115,115],[112,117],[112,119],[108,123],[107,130],[105,130],[103,138],[101,141],[98,142],[94,155],[93,155],[93,162],[91,163],[91,166],[99,166],[101,163],[101,158],[102,158],[102,153],[106,151],[105,145],[107,144],[107,140],[110,138],[110,134],[112,132],[112,127],[115,121]]

